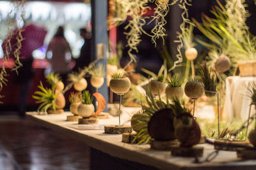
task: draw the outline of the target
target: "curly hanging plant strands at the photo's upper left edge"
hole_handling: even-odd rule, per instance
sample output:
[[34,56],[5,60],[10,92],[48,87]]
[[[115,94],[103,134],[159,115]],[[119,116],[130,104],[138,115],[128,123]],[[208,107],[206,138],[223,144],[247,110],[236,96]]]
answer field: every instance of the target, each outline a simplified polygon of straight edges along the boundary
[[[8,62],[8,60],[10,59],[10,55],[11,55],[11,51],[13,50],[12,54],[15,58],[15,66],[12,68],[12,71],[15,71],[17,74],[18,73],[18,69],[20,67],[22,67],[22,63],[20,62],[20,49],[22,47],[21,43],[24,40],[21,32],[22,32],[22,28],[17,27],[17,24],[21,24],[19,21],[15,20],[15,18],[13,18],[14,16],[16,18],[21,17],[20,21],[22,20],[23,22],[23,17],[25,14],[25,10],[24,10],[24,4],[26,3],[26,0],[21,0],[21,1],[15,1],[12,0],[10,1],[10,3],[12,4],[12,10],[7,13],[7,30],[8,33],[6,34],[6,37],[4,38],[4,42],[3,44],[5,44],[4,48],[3,48],[3,52],[4,52],[4,56],[3,56],[3,64],[1,65],[0,69],[0,92],[3,89],[4,85],[7,85],[8,82],[8,73],[6,71],[6,63]],[[19,14],[18,14],[19,13]],[[17,17],[19,16],[19,17]],[[15,30],[15,31],[13,31]],[[13,46],[11,41],[13,41],[13,39],[15,39],[15,41],[17,41],[17,43],[15,43],[15,45]],[[4,96],[0,94],[0,99],[3,98]],[[1,104],[1,101],[0,101]]]

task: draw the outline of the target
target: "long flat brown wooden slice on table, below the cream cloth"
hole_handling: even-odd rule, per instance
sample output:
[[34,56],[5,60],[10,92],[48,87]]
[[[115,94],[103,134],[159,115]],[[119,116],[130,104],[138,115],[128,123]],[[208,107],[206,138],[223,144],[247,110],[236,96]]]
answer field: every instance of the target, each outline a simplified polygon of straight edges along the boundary
[[214,141],[214,149],[216,150],[243,150],[244,148],[241,146],[250,146],[250,143],[248,141],[228,141],[227,139],[217,139]]

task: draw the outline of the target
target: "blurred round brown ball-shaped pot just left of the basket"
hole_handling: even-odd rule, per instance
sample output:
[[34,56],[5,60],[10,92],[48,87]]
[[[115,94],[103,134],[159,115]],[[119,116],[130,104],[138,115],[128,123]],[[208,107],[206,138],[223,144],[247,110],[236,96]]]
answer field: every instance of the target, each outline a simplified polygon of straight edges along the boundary
[[214,63],[214,69],[219,73],[224,73],[225,71],[228,71],[228,69],[230,69],[230,66],[230,59],[226,55],[221,55]]

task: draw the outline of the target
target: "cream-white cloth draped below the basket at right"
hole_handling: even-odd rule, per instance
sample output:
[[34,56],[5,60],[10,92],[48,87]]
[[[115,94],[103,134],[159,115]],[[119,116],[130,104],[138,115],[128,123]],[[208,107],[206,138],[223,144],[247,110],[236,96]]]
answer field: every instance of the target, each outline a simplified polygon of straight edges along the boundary
[[[250,83],[253,81],[256,83],[256,77],[227,77],[223,118],[227,120],[236,118],[243,122],[248,119],[251,104]],[[251,115],[253,113],[255,113],[254,106],[252,106]]]

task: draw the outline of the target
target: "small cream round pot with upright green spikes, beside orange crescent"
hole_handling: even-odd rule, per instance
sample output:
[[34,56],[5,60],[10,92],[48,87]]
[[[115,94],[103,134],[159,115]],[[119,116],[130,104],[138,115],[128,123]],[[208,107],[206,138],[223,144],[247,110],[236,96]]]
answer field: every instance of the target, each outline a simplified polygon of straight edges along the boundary
[[77,108],[77,113],[83,118],[89,118],[94,113],[94,106],[92,104],[93,96],[88,90],[84,90],[81,94],[82,103]]

